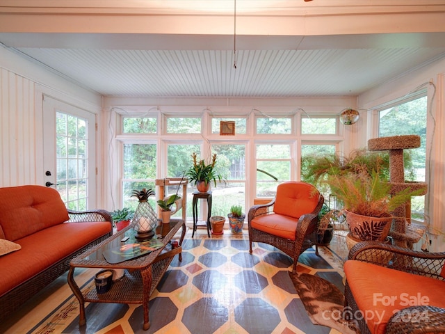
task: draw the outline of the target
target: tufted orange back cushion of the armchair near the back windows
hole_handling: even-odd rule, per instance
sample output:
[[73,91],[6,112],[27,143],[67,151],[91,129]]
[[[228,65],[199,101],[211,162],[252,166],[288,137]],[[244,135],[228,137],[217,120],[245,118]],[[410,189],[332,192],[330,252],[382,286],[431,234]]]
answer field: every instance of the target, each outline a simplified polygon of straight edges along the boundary
[[318,205],[320,193],[309,183],[289,181],[277,186],[277,196],[273,211],[293,218],[314,211]]

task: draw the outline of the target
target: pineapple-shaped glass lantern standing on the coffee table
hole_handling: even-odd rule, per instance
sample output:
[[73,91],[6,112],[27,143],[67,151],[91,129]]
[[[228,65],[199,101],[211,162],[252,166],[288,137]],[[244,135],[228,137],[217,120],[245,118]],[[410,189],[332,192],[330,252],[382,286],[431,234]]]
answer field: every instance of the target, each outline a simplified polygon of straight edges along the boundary
[[137,197],[139,200],[133,216],[133,229],[136,230],[135,237],[139,241],[152,239],[154,229],[158,225],[154,209],[148,202],[149,196],[154,196],[153,189],[133,190],[133,195],[131,195],[131,197]]

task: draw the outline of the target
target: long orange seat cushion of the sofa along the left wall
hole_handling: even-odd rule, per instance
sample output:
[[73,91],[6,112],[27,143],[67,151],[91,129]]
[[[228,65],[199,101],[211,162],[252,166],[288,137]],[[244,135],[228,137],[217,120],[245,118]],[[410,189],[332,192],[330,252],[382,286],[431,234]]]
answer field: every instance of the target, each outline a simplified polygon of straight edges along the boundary
[[108,232],[108,221],[63,223],[16,240],[22,249],[0,256],[0,296]]

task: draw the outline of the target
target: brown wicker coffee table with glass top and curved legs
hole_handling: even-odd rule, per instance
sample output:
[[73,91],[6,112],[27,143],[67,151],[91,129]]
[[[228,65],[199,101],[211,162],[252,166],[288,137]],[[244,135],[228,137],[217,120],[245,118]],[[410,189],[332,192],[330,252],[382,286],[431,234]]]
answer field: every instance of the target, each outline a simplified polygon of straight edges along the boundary
[[[170,240],[182,227],[179,246],[173,248]],[[79,300],[80,317],[79,326],[86,324],[85,302],[93,303],[125,303],[125,304],[142,304],[144,310],[144,330],[149,328],[148,302],[149,297],[156,289],[163,274],[168,269],[173,257],[179,254],[179,261],[182,260],[181,244],[186,235],[186,224],[182,219],[172,219],[169,224],[162,224],[156,228],[156,237],[163,244],[161,248],[153,250],[152,253],[133,258],[132,260],[124,260],[123,262],[110,264],[103,253],[110,249],[119,249],[125,244],[137,244],[134,239],[134,230],[131,226],[124,228],[117,234],[102,241],[85,253],[75,257],[70,262],[70,271],[68,272],[68,284],[72,292]],[[121,240],[129,237],[125,242]],[[79,286],[74,280],[74,271],[76,268],[102,268],[102,269],[125,269],[124,276],[115,280],[111,289],[104,294],[97,294],[96,289],[83,294]]]

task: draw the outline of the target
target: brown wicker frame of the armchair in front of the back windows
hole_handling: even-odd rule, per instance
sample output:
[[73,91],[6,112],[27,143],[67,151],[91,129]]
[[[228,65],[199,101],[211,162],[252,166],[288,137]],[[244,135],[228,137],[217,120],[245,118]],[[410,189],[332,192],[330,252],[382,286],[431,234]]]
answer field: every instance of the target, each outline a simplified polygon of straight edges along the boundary
[[265,244],[274,246],[292,258],[292,272],[296,273],[298,257],[300,257],[307,248],[315,245],[315,253],[318,255],[318,246],[316,243],[316,230],[319,221],[318,212],[320,212],[324,202],[325,199],[323,195],[320,194],[318,204],[314,211],[300,216],[297,222],[295,240],[284,239],[274,234],[257,230],[252,228],[250,224],[254,218],[274,213],[273,205],[275,204],[275,198],[266,204],[252,206],[248,213],[249,253],[252,254],[252,242],[264,242]]

